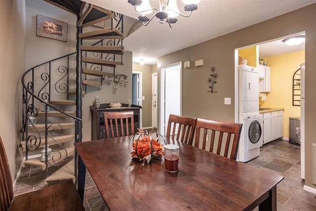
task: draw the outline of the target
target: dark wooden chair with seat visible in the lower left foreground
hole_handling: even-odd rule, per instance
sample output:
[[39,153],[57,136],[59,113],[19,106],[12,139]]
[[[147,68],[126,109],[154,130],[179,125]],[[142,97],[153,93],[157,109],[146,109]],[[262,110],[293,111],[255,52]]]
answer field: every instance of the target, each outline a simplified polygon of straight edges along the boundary
[[11,172],[0,137],[0,210],[84,211],[84,208],[72,181],[57,183],[13,197]]

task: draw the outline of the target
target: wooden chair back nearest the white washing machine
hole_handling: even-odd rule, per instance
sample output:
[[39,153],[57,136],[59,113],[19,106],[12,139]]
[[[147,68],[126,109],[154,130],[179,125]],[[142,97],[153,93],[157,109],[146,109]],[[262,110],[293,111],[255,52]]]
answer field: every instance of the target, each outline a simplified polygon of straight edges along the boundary
[[[197,118],[197,129],[194,146],[199,147],[200,145],[200,132],[202,132],[202,149],[206,149],[206,142],[208,141],[208,131],[211,131],[210,138],[210,152],[214,152],[218,155],[228,157],[230,159],[237,159],[237,151],[239,145],[239,138],[242,124],[220,122],[213,120],[206,120]],[[227,136],[226,141],[223,141],[223,137]],[[217,149],[215,149],[217,144]],[[228,155],[231,152],[230,156]]]

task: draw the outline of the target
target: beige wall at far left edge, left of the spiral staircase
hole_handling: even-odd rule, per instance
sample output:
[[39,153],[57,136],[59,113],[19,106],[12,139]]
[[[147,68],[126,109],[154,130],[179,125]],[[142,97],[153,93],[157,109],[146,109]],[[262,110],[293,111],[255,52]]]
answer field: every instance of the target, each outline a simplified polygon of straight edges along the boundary
[[21,75],[25,58],[25,2],[24,0],[0,1],[0,136],[8,157],[14,180],[21,165],[17,146],[22,116]]

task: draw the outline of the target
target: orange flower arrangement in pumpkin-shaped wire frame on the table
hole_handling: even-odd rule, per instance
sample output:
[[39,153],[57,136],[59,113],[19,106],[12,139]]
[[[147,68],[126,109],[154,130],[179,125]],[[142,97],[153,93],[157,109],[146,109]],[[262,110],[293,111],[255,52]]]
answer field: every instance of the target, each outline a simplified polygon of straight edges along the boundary
[[[153,139],[151,134],[146,134],[142,129],[138,128],[139,137],[133,140],[133,150],[131,155],[133,158],[138,158],[143,162],[150,163],[152,158],[159,159],[164,154],[162,149],[163,144],[159,143],[156,139]],[[158,132],[154,132],[158,133]]]

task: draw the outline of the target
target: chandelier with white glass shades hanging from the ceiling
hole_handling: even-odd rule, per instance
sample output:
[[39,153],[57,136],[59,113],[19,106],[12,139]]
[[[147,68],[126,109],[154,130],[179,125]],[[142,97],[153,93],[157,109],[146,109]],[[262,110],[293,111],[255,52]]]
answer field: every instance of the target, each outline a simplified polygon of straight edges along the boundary
[[[192,11],[197,9],[197,3],[200,0],[182,0],[186,4],[184,10],[188,11],[188,14],[180,13],[177,0],[159,0],[159,9],[151,7],[149,0],[128,0],[127,2],[134,6],[137,13],[141,14],[138,19],[143,22],[144,26],[147,26],[156,16],[159,19],[159,23],[167,22],[172,27],[172,24],[178,21],[176,19],[178,15],[189,17]],[[151,18],[146,16],[153,12],[155,13]]]

